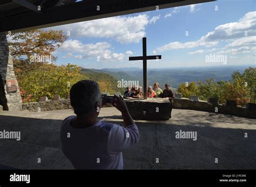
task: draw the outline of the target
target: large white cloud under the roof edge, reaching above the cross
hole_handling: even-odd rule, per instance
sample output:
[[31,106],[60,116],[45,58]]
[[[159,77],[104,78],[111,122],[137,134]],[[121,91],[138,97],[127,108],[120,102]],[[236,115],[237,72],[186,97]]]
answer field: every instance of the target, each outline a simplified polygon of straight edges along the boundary
[[160,15],[150,17],[146,14],[133,17],[117,16],[47,29],[63,30],[65,33],[69,31],[72,37],[111,38],[120,43],[132,43],[145,37],[146,26],[156,23],[159,18]]

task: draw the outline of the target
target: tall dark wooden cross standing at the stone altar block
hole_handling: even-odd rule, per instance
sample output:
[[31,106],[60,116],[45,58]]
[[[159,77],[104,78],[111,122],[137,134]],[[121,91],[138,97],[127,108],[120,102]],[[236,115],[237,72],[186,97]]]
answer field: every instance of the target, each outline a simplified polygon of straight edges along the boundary
[[129,60],[143,60],[143,95],[147,99],[147,60],[161,59],[161,55],[147,56],[147,38],[143,38],[143,56],[131,56]]

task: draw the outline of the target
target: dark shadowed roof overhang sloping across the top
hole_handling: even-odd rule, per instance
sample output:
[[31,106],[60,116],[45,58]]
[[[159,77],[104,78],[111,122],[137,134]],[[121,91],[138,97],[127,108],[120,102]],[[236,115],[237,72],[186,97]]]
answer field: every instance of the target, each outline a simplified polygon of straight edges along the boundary
[[0,0],[0,33],[151,11],[157,6],[165,9],[211,1],[214,0]]

